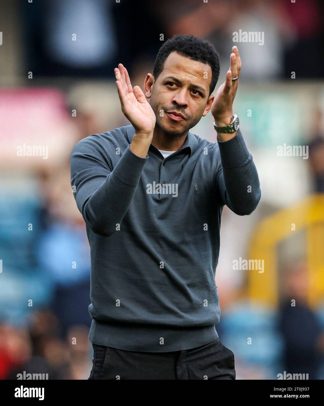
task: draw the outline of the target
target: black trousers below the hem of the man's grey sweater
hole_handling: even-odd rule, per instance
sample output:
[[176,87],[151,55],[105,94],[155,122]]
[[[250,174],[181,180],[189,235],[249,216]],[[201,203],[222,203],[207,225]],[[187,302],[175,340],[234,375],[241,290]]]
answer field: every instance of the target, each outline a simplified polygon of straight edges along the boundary
[[234,354],[219,339],[190,350],[136,352],[93,346],[91,379],[235,379]]

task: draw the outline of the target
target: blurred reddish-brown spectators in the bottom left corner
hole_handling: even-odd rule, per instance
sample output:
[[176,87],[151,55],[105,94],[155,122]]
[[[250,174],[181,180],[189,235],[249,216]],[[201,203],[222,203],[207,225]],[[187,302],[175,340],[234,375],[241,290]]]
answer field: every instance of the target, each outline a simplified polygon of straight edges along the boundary
[[86,380],[92,363],[89,328],[74,325],[62,338],[50,310],[35,311],[25,327],[0,324],[0,379],[48,374],[45,379]]

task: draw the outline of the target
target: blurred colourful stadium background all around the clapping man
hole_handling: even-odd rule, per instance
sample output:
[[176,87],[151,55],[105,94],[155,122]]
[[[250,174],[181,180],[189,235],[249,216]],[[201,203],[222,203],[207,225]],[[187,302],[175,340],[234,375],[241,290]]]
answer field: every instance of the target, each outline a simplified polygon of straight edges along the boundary
[[[323,379],[322,3],[12,0],[0,7],[0,379],[22,371],[89,377],[90,252],[69,158],[81,138],[129,124],[114,67],[123,63],[143,89],[160,34],[192,34],[216,46],[220,85],[240,29],[264,32],[262,46],[236,43],[242,73],[234,103],[262,197],[251,216],[224,208],[216,330],[235,354],[237,379],[284,371]],[[210,114],[191,131],[216,142]],[[283,143],[309,146],[308,159],[278,156]],[[48,147],[48,157],[17,156],[24,144]],[[264,259],[264,273],[233,270],[240,257]]]

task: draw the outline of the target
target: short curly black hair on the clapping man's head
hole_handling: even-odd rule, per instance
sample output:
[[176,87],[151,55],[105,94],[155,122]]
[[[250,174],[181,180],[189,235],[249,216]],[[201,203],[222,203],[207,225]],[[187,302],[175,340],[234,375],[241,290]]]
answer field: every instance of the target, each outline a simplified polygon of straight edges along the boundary
[[219,78],[219,56],[212,43],[194,35],[173,35],[160,48],[154,63],[153,76],[157,80],[160,73],[163,71],[164,61],[171,54],[177,52],[182,56],[186,56],[192,60],[207,63],[212,68],[212,81],[210,82],[210,91],[208,97],[215,89]]

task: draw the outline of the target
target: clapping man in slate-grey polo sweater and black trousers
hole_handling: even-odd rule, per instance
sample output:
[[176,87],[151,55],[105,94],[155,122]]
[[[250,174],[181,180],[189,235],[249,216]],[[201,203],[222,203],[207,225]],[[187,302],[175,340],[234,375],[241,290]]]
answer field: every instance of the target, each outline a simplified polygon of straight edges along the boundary
[[[251,214],[261,192],[233,115],[237,47],[230,60],[216,95],[218,54],[192,35],[162,45],[145,93],[119,64],[131,125],[72,151],[71,185],[91,247],[89,379],[235,379],[233,352],[214,326],[220,218],[225,204]],[[210,110],[215,143],[189,131]]]

